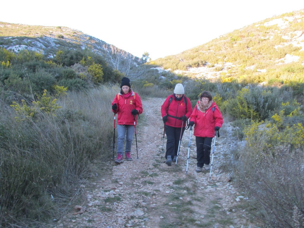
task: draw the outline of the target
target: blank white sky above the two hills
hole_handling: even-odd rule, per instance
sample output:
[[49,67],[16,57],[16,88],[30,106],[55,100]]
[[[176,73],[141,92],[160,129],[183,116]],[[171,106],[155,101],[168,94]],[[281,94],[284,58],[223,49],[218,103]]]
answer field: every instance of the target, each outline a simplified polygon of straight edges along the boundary
[[154,60],[300,9],[303,0],[13,0],[1,2],[0,21],[77,29]]

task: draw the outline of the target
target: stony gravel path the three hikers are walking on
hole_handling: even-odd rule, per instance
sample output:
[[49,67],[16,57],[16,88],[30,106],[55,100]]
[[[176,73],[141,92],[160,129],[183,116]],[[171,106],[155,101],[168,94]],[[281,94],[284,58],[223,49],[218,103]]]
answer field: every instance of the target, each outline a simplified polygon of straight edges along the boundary
[[86,201],[75,213],[58,221],[57,227],[257,227],[242,209],[246,196],[238,192],[225,172],[232,146],[228,124],[224,123],[220,138],[216,139],[211,180],[210,172],[194,171],[196,146],[192,131],[186,174],[189,129],[184,133],[176,167],[175,163],[164,163],[160,113],[163,102],[163,98],[143,99],[144,111],[136,127],[139,159],[134,137],[134,160],[119,165],[111,160],[104,167],[109,170],[108,176],[81,185]]

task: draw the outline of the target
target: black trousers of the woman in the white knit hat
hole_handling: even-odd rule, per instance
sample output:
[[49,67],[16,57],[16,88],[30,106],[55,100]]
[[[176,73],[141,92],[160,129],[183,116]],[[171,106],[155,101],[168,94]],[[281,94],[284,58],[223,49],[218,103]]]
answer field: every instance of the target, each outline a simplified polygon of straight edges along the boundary
[[[181,133],[182,129],[182,133]],[[168,155],[171,155],[171,159],[174,158],[174,155],[177,155],[179,138],[183,137],[185,127],[183,128],[174,128],[171,126],[165,126],[165,132],[167,135],[167,144],[166,144],[166,159]]]

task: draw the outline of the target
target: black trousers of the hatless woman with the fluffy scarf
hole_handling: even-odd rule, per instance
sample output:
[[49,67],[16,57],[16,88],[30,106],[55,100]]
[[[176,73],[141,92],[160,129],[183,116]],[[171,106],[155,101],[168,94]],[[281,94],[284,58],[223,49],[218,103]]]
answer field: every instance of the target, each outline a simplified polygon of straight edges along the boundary
[[197,166],[203,167],[204,164],[209,165],[212,138],[195,136],[195,142]]

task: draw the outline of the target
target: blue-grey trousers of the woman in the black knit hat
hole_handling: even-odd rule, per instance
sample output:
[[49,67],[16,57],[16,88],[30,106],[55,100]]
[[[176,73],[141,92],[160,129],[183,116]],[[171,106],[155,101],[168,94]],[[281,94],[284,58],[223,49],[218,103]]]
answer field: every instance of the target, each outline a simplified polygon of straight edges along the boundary
[[135,132],[134,125],[117,125],[117,153],[123,154],[123,144],[126,137],[126,152],[131,151],[131,145],[133,141],[133,134]]

